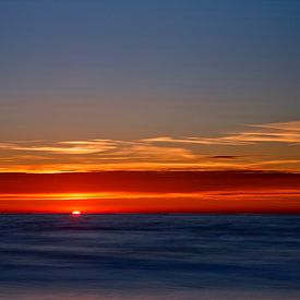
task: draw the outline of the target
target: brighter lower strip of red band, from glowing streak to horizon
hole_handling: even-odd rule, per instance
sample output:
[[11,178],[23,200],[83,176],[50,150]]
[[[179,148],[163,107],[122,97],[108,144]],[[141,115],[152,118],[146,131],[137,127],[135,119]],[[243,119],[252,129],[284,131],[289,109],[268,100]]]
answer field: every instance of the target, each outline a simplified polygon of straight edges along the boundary
[[[12,203],[13,202],[13,203]],[[0,196],[1,211],[15,213],[299,213],[299,191],[197,193],[15,194]],[[72,211],[72,207],[80,209]]]

